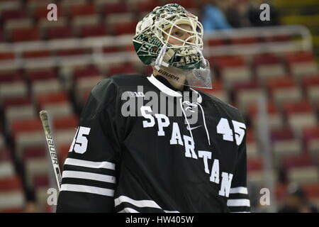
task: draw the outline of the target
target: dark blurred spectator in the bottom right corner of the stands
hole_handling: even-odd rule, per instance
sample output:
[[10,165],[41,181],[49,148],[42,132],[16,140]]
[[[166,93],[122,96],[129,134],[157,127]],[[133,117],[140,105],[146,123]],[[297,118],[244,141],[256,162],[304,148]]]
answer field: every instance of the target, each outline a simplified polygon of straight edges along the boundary
[[309,203],[306,193],[296,183],[289,184],[286,199],[279,213],[318,213],[318,209]]

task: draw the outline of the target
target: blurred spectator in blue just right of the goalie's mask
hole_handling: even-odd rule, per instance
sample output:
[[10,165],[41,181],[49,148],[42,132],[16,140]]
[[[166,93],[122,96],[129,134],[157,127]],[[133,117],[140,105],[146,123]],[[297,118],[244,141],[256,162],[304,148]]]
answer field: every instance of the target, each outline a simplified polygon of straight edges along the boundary
[[219,29],[232,28],[225,18],[226,11],[231,1],[211,0],[203,5],[203,29],[204,31],[215,31]]

